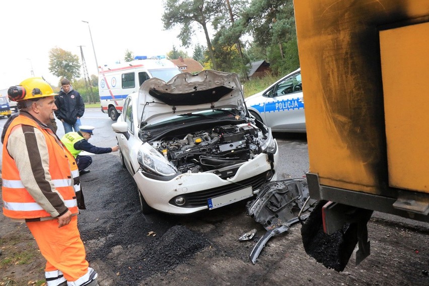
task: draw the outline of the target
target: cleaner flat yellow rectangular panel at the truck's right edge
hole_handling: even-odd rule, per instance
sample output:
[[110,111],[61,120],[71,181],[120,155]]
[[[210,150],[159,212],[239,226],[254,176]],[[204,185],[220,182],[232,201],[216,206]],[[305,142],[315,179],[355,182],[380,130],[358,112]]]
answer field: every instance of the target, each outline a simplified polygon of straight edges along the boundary
[[380,31],[389,185],[429,192],[429,23]]

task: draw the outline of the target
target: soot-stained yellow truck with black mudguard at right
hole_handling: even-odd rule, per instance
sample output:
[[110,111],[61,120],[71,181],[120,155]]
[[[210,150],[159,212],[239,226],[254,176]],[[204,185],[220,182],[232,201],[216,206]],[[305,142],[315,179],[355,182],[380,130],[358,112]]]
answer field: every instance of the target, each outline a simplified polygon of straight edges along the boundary
[[342,271],[352,254],[356,263],[370,254],[374,210],[429,222],[429,0],[294,0],[294,7],[307,182],[321,201],[303,242]]

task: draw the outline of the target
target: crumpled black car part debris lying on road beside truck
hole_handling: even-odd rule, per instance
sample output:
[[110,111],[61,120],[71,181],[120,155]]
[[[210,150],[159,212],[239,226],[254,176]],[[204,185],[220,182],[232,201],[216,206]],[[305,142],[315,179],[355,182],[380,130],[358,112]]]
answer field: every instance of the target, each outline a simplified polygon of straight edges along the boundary
[[300,219],[307,219],[309,213],[300,218],[298,213],[303,205],[305,205],[303,211],[306,211],[310,210],[316,202],[314,199],[309,199],[305,204],[308,197],[309,191],[305,179],[287,179],[262,185],[257,197],[247,203],[248,215],[267,230],[250,253],[253,264],[256,263],[259,254],[271,237],[287,232],[289,227]]

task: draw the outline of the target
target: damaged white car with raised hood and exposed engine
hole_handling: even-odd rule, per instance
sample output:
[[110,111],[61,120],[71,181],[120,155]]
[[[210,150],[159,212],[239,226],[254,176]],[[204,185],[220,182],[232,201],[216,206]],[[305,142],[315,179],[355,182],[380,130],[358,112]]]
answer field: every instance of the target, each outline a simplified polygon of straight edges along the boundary
[[277,142],[249,116],[237,74],[149,79],[127,96],[112,128],[143,213],[214,209],[276,180]]

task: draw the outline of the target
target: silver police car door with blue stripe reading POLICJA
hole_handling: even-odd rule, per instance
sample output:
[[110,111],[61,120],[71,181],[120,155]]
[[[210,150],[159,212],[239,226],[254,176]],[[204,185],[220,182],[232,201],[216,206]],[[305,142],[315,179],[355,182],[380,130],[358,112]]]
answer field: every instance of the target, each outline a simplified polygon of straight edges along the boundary
[[301,71],[266,91],[265,121],[273,131],[305,131]]

